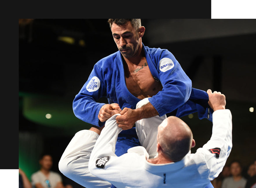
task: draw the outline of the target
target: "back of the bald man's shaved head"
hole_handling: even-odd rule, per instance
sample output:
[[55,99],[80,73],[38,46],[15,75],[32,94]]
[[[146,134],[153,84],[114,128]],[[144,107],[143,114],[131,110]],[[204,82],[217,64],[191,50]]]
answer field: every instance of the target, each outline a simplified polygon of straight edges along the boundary
[[158,127],[158,143],[173,162],[180,161],[191,149],[193,134],[180,118],[169,116]]

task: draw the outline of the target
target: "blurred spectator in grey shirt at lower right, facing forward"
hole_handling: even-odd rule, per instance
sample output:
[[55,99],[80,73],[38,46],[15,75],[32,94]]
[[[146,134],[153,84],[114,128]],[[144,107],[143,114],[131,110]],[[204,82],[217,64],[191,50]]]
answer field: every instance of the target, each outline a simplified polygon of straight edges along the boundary
[[245,188],[246,179],[242,176],[242,165],[239,161],[230,164],[231,177],[223,180],[222,188]]

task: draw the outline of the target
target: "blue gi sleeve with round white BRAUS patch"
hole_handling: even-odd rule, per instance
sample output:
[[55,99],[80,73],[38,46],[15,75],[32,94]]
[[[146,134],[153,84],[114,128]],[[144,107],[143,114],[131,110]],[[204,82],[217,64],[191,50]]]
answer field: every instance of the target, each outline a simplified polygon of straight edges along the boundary
[[163,89],[151,97],[149,102],[162,116],[180,107],[189,99],[192,82],[168,50],[157,49],[151,60],[155,64],[154,69],[157,69],[157,73],[154,71],[151,73],[160,80]]

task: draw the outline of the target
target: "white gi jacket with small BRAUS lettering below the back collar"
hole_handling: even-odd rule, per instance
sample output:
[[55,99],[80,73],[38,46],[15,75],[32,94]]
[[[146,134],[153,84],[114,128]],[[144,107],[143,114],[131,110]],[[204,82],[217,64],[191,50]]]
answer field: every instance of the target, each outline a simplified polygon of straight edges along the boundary
[[189,152],[181,161],[167,164],[147,162],[149,154],[142,146],[117,157],[115,145],[122,131],[115,121],[117,115],[106,121],[92,150],[89,171],[118,188],[204,188],[220,174],[231,152],[232,116],[228,109],[213,113],[212,136],[202,148],[195,154]]

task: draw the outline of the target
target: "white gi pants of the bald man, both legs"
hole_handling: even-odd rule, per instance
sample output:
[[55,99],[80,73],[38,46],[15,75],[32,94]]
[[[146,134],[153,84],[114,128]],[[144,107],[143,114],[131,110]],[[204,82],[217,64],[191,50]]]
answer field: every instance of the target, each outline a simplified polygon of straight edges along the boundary
[[[148,102],[148,98],[145,98],[138,102],[136,108],[140,108]],[[146,148],[149,158],[156,157],[158,154],[156,152],[157,128],[165,118],[166,115],[162,117],[157,115],[136,122],[136,132],[140,144]],[[62,174],[86,188],[111,187],[109,182],[92,175],[88,169],[89,158],[98,137],[99,135],[91,130],[77,132],[67,145],[58,163]]]

